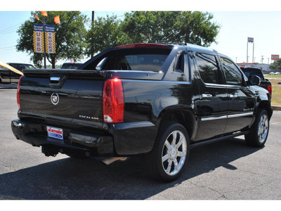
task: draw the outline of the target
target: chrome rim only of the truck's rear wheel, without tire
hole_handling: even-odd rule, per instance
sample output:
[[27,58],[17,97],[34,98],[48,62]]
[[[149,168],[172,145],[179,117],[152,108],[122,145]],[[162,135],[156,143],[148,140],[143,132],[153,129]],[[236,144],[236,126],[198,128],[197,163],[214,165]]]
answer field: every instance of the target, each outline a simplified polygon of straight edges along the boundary
[[171,132],[162,149],[162,167],[166,174],[172,176],[180,172],[185,163],[187,150],[185,135],[179,130]]

